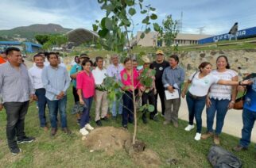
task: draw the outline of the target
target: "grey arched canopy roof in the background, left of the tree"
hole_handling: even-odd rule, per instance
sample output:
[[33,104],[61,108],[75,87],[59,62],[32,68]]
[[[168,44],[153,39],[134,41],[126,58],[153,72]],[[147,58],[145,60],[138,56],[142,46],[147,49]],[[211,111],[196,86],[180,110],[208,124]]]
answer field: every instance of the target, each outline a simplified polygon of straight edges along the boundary
[[87,29],[73,29],[67,32],[68,41],[73,42],[76,46],[83,44],[87,41],[95,40],[99,37],[96,32]]

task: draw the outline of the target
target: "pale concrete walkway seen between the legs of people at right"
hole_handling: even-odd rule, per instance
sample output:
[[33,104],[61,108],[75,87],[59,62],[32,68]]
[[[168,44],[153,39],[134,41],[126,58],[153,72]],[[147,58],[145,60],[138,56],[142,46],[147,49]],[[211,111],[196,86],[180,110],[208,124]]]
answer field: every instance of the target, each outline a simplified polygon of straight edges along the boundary
[[[158,97],[157,99],[157,110],[161,111],[161,101]],[[188,120],[188,106],[185,98],[181,98],[181,105],[179,111],[179,118],[181,120]],[[215,117],[216,120],[216,117]],[[196,120],[194,120],[196,122]],[[206,110],[204,108],[203,115],[202,115],[203,127],[206,127]],[[215,129],[215,122],[213,125]],[[235,110],[231,109],[227,111],[227,115],[225,117],[224,125],[223,125],[223,132],[230,134],[232,136],[236,136],[241,138],[242,132],[242,110]],[[204,132],[202,132],[204,133]],[[254,124],[254,128],[251,133],[252,142],[256,143],[256,124]],[[238,142],[239,143],[239,142]]]

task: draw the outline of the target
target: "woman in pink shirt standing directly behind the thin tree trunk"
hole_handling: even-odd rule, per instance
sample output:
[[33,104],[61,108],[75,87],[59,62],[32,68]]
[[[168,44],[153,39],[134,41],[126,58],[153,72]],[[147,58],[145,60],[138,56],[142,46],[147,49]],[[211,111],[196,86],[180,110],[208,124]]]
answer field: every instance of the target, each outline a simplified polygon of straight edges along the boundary
[[[122,95],[123,109],[122,109],[122,127],[127,128],[128,122],[134,122],[134,103],[133,103],[133,93],[138,94],[138,87],[140,87],[138,79],[138,71],[132,69],[132,61],[130,58],[126,58],[124,61],[124,69],[121,71],[121,82],[124,85],[122,90],[125,94]],[[134,74],[134,85],[132,85],[132,73]]]

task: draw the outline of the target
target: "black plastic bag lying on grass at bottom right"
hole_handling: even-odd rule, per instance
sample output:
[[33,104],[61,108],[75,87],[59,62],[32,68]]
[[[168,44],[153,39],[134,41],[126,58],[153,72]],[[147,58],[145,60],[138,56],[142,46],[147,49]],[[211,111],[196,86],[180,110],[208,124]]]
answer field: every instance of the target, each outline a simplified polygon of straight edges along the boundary
[[211,166],[215,168],[239,168],[242,167],[242,162],[234,154],[226,151],[222,147],[211,146],[208,154],[208,160]]

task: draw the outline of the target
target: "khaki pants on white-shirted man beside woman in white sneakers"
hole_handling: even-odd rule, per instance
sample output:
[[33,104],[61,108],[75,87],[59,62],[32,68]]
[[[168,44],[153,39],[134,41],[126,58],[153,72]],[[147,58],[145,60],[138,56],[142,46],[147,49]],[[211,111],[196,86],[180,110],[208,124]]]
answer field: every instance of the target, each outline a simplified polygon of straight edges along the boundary
[[[95,121],[100,120],[100,118],[104,118],[107,116],[108,102],[107,102],[107,91],[99,91],[95,90],[95,100],[96,100],[96,108],[95,108]],[[101,109],[101,115],[100,115]]]

